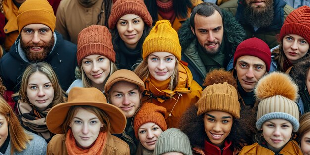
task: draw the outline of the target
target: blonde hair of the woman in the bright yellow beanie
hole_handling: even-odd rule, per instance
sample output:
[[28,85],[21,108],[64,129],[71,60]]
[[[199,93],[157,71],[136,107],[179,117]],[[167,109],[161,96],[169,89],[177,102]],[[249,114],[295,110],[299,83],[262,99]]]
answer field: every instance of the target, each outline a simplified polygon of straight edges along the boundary
[[[149,71],[149,67],[148,67],[148,59],[149,59],[149,57],[150,57],[150,55],[148,55],[141,63],[136,64],[137,67],[134,70],[134,72],[143,81],[150,76],[150,71]],[[176,59],[176,57],[175,57],[175,59]],[[179,81],[179,67],[178,67],[178,64],[179,64],[179,61],[176,59],[175,67],[174,67],[174,70],[173,70],[172,75],[171,75],[171,80],[170,80],[170,83],[169,83],[169,87],[167,88],[167,89],[170,89],[171,91],[173,91],[177,87],[177,85],[178,85],[178,81]]]

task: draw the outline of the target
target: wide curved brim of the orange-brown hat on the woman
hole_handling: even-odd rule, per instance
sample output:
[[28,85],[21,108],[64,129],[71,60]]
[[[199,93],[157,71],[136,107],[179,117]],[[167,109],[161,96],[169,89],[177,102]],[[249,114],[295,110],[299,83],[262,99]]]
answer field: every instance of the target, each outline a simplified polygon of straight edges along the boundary
[[67,118],[68,111],[71,106],[77,105],[86,105],[86,106],[94,106],[101,110],[103,110],[109,117],[112,134],[122,133],[126,127],[126,116],[124,113],[116,106],[103,102],[66,102],[60,103],[48,112],[46,117],[46,124],[48,129],[55,134],[62,134],[64,131],[62,130],[63,123]]

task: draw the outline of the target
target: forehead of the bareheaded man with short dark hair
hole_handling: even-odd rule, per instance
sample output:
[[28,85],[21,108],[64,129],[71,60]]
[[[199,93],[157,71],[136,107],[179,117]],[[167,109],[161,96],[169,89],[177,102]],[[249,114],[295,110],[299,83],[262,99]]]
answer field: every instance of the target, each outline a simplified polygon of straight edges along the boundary
[[196,29],[214,29],[219,26],[223,26],[221,15],[214,11],[214,13],[208,17],[196,14],[194,17],[194,23]]

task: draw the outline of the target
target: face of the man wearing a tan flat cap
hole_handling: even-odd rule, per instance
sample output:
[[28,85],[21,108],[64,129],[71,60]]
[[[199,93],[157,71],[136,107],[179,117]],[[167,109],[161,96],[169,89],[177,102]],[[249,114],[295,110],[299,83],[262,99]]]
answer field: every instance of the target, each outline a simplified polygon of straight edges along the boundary
[[120,108],[126,118],[131,118],[141,104],[141,93],[136,84],[119,81],[113,84],[109,92],[110,103]]

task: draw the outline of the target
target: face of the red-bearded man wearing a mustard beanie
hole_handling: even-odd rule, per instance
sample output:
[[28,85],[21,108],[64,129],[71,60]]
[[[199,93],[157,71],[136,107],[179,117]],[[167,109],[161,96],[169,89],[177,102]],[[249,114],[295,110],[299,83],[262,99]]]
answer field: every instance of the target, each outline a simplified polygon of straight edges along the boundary
[[20,32],[21,48],[30,61],[44,60],[54,46],[52,30],[43,24],[29,24]]

